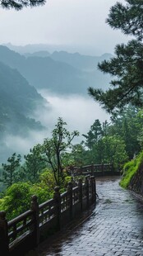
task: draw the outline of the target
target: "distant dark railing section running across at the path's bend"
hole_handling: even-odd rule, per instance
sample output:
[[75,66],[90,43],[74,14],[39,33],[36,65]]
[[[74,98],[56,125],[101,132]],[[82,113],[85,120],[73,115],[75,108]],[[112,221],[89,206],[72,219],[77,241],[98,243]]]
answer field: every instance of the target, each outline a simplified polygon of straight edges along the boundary
[[82,167],[73,167],[70,169],[70,174],[72,177],[85,175],[100,177],[119,175],[120,173],[114,170],[113,164],[91,164]]

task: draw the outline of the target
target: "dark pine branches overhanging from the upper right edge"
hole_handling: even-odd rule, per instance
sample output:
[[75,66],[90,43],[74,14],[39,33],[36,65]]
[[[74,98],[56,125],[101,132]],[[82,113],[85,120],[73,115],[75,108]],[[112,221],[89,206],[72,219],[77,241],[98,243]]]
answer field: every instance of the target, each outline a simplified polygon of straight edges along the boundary
[[99,69],[113,76],[107,91],[89,88],[94,97],[108,112],[121,110],[129,102],[143,106],[143,2],[126,0],[126,5],[117,2],[111,7],[108,25],[124,34],[135,36],[127,45],[117,45],[115,56],[99,64]]

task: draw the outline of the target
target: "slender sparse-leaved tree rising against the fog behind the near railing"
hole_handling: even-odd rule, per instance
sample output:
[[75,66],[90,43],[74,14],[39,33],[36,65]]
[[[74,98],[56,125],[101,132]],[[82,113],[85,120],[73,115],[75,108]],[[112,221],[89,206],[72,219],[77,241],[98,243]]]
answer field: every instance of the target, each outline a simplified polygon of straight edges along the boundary
[[71,147],[71,141],[74,137],[79,135],[77,130],[69,132],[65,126],[67,126],[67,123],[62,121],[62,118],[59,117],[58,124],[52,131],[52,138],[45,139],[41,147],[41,154],[48,163],[48,166],[52,168],[55,182],[58,186],[60,186],[61,180],[62,182],[64,180],[62,155]]

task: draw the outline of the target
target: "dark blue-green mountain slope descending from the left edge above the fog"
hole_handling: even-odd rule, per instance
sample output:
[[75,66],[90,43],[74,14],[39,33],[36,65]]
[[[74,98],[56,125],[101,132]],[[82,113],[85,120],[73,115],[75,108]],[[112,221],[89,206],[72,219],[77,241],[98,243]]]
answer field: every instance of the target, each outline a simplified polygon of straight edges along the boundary
[[26,135],[28,130],[40,130],[39,121],[30,118],[44,98],[16,69],[0,63],[0,136]]

